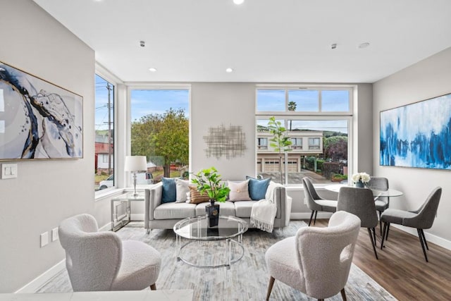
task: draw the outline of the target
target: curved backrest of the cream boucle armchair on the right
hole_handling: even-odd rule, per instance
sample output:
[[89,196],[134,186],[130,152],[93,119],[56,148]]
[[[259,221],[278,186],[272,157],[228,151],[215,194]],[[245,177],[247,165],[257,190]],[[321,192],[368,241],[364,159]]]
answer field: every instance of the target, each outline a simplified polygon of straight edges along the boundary
[[335,295],[345,287],[360,219],[345,211],[335,212],[327,228],[303,227],[297,231],[297,260],[307,295]]

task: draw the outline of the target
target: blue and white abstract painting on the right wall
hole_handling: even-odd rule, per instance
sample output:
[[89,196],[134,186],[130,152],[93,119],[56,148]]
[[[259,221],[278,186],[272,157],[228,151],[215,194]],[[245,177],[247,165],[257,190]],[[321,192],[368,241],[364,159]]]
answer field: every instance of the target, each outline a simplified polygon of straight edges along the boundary
[[451,94],[381,111],[381,162],[451,170]]

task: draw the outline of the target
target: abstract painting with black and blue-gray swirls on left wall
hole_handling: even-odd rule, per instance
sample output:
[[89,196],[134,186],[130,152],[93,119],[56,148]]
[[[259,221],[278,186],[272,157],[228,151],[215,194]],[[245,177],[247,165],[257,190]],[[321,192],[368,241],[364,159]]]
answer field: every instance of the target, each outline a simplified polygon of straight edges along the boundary
[[0,160],[83,157],[83,98],[0,62]]

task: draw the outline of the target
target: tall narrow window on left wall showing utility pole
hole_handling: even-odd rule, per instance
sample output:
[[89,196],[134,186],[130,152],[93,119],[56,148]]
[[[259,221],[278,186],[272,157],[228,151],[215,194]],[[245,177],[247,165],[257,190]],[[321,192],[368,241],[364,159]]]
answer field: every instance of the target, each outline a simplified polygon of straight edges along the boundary
[[114,183],[114,85],[95,75],[95,190]]

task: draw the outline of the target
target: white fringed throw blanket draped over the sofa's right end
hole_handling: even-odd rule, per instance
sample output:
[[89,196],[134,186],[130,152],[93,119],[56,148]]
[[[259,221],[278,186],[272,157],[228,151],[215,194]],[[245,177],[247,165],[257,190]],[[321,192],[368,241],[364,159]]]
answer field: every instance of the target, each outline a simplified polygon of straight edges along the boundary
[[260,199],[252,205],[251,225],[260,230],[272,233],[274,219],[276,218],[277,206],[274,203],[274,188],[276,183],[270,183],[266,190],[265,199]]

